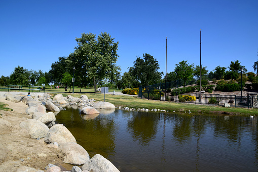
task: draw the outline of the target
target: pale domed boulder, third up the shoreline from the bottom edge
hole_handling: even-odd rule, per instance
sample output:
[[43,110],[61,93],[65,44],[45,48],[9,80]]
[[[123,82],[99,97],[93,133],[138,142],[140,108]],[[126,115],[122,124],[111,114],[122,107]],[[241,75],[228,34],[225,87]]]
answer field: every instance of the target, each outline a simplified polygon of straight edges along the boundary
[[62,124],[55,124],[49,129],[44,142],[47,144],[57,142],[61,145],[66,142],[76,143],[76,139],[65,126]]

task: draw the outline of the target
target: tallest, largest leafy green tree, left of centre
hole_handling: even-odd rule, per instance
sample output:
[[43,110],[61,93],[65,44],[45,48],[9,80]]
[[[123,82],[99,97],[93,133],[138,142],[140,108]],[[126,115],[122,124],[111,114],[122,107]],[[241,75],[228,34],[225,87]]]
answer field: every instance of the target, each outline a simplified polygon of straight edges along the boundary
[[113,78],[120,70],[116,65],[118,42],[114,42],[106,32],[101,32],[97,40],[93,33],[82,33],[76,41],[78,46],[68,58],[76,68],[80,68],[76,74],[81,85],[86,85],[91,79],[96,92],[100,81]]

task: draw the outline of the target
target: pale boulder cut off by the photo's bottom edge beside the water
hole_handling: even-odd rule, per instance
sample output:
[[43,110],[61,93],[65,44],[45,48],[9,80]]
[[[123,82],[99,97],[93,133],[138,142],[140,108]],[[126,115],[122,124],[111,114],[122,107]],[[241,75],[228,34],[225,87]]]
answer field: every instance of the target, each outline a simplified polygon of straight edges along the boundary
[[96,154],[89,161],[87,161],[83,166],[83,170],[88,171],[101,171],[101,172],[118,172],[119,170],[113,163],[108,161],[103,156]]

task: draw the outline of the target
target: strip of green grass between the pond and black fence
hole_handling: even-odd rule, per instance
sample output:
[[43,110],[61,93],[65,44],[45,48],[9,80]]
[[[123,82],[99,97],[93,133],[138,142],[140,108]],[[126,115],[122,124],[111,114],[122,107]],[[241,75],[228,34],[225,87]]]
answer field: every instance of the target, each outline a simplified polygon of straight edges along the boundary
[[[52,94],[52,95],[55,95]],[[72,95],[75,97],[80,97],[82,94],[67,94],[63,93],[63,96]],[[88,98],[93,98],[96,101],[104,101],[104,94],[101,93],[87,93],[85,94]],[[247,108],[225,108],[218,106],[205,106],[205,105],[195,105],[195,104],[185,104],[185,103],[175,103],[168,101],[159,100],[148,100],[141,99],[138,97],[125,96],[125,95],[105,95],[105,101],[114,104],[116,107],[129,107],[129,108],[145,108],[145,109],[160,109],[166,111],[175,112],[188,112],[192,113],[212,113],[212,114],[230,114],[230,115],[258,115],[258,109],[247,109]]]

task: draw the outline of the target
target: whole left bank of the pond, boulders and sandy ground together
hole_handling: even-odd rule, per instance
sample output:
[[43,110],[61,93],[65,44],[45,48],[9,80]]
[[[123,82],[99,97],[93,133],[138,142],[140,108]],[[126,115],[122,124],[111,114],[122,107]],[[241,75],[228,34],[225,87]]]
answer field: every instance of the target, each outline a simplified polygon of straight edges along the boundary
[[[77,105],[86,109],[82,111],[86,115],[99,113],[97,108],[115,109],[114,105],[107,102],[107,104],[104,102],[95,103],[94,99],[88,99],[86,95],[78,98],[71,95],[63,97],[62,94],[51,97],[47,93],[33,93],[31,96],[15,95],[10,92],[2,94],[3,92],[1,92],[0,98],[6,100],[4,103],[9,105],[8,108],[15,109],[18,108],[18,105],[21,107],[21,109],[15,109],[14,112],[1,112],[0,128],[2,133],[0,136],[3,138],[0,139],[4,139],[5,142],[0,142],[0,150],[7,150],[0,153],[0,169],[2,171],[67,171],[61,169],[62,166],[59,165],[61,161],[73,165],[68,171],[119,171],[112,162],[99,154],[90,158],[87,151],[76,143],[76,139],[70,131],[62,124],[55,123],[55,113],[65,110],[56,105]],[[51,112],[47,112],[47,110]],[[17,120],[18,117],[19,120]],[[15,133],[18,135],[17,138],[8,138],[9,135]],[[19,139],[18,137],[22,135],[24,135],[23,139]],[[9,139],[14,140],[17,144],[12,143],[14,146],[11,147],[12,144],[8,144]],[[24,143],[25,141],[27,143]],[[21,147],[16,150],[15,145]],[[28,154],[30,157],[24,157],[28,156],[22,152],[23,148],[27,149],[25,147],[31,147],[32,153]],[[33,147],[38,147],[38,149],[33,150]],[[41,147],[45,148],[40,150]],[[50,152],[46,152],[46,149],[49,149]],[[12,151],[17,151],[16,155],[10,156]],[[51,156],[56,157],[56,160],[51,160]],[[29,163],[32,158],[35,159],[35,162]],[[46,161],[41,160],[44,158]],[[42,161],[46,163],[45,167],[43,168],[43,164],[41,164],[37,168],[37,164],[42,163]]]

